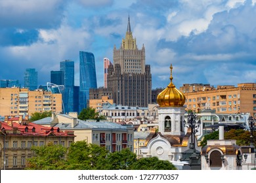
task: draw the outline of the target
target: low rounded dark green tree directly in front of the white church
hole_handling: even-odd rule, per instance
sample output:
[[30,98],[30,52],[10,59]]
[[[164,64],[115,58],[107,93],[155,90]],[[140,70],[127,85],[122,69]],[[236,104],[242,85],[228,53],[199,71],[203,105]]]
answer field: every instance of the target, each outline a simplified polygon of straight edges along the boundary
[[156,157],[141,158],[131,165],[132,170],[177,170],[173,163]]

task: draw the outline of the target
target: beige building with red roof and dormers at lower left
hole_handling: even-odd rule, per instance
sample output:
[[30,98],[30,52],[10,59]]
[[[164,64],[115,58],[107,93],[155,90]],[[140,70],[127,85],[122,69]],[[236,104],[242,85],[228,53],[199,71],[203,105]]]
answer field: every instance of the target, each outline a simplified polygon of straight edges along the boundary
[[18,118],[0,122],[0,168],[24,169],[27,159],[34,156],[32,146],[44,146],[50,142],[68,147],[74,142],[73,131],[60,131],[58,127],[44,127]]

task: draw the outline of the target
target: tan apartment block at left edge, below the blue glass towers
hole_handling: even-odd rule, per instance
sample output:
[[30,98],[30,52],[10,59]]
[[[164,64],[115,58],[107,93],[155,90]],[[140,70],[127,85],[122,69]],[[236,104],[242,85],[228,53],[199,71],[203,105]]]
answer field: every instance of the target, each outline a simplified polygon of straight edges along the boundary
[[0,88],[0,115],[29,115],[33,112],[61,112],[62,95],[28,88]]

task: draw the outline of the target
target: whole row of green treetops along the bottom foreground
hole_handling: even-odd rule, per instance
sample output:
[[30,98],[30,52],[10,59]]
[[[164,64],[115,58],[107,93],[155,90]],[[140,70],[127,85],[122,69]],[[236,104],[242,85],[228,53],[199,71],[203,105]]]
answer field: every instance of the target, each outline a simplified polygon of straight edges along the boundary
[[35,157],[28,159],[28,169],[46,170],[163,170],[176,169],[169,161],[156,157],[137,159],[129,148],[109,152],[96,144],[77,141],[69,148],[63,146],[33,147]]

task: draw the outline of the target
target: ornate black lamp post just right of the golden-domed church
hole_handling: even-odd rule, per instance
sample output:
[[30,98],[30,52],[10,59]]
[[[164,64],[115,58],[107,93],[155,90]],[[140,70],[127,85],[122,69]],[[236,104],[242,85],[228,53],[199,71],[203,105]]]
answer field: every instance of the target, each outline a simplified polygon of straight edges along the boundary
[[191,129],[191,143],[189,148],[193,150],[192,155],[190,156],[190,162],[189,165],[190,167],[193,165],[198,165],[198,160],[200,157],[200,154],[196,154],[196,132],[198,132],[198,128],[200,126],[200,120],[198,120],[198,122],[196,122],[196,114],[194,114],[193,112],[191,112],[190,114],[188,114],[188,122],[186,123],[184,120],[184,126],[185,127],[189,127]]

